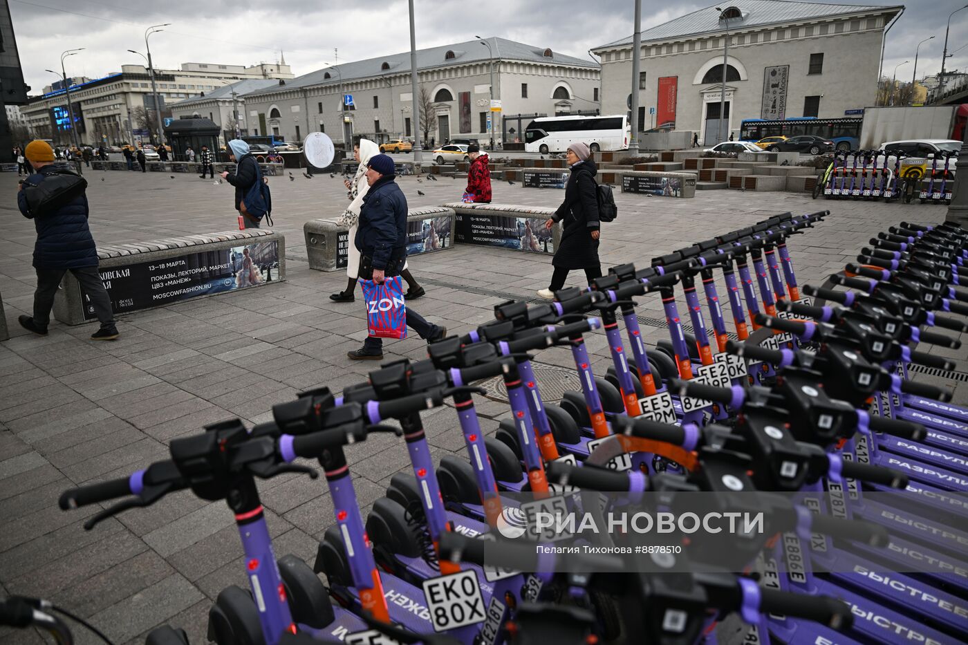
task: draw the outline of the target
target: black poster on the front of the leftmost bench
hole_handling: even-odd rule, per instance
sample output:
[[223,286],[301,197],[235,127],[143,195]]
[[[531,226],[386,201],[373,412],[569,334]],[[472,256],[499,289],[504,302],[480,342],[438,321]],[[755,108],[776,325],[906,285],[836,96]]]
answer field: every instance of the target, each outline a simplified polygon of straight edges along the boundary
[[[231,292],[278,280],[279,242],[256,242],[217,251],[103,267],[100,273],[114,313],[126,314],[199,295]],[[89,321],[97,318],[83,288],[80,288],[80,296],[84,319]]]

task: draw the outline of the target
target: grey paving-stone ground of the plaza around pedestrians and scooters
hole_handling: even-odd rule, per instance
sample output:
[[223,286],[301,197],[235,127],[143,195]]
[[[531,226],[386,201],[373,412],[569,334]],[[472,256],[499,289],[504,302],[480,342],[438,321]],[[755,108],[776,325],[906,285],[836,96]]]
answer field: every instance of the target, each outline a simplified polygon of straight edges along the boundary
[[[87,532],[81,525],[99,507],[65,512],[57,498],[68,487],[127,476],[164,459],[172,439],[205,424],[232,417],[268,420],[273,404],[301,390],[323,384],[342,390],[377,368],[346,356],[367,334],[359,297],[339,304],[327,297],[346,286],[346,274],[312,270],[306,260],[303,224],[343,210],[342,178],[293,174],[294,180],[270,178],[274,230],[286,236],[285,282],[122,315],[119,340],[92,343],[87,337],[94,324],[52,323],[46,338],[17,325],[16,317],[31,311],[35,231],[16,208],[15,175],[0,173],[8,196],[0,211],[0,291],[12,334],[0,343],[0,595],[51,599],[90,619],[115,643],[143,642],[146,631],[163,623],[184,628],[198,643],[205,642],[207,611],[218,593],[229,584],[245,585],[241,546],[223,502],[205,504],[182,492]],[[87,170],[85,176],[99,244],[236,228],[226,183],[157,172]],[[465,186],[449,177],[399,181],[411,208],[460,200]],[[554,207],[562,196],[554,189],[494,183],[494,203]],[[619,218],[602,229],[603,268],[629,261],[645,266],[655,256],[774,214],[830,209],[819,227],[790,242],[800,283],[813,285],[854,261],[876,231],[905,220],[940,222],[946,211],[930,204],[734,190],[702,191],[694,199],[617,192],[616,200]],[[450,334],[492,320],[502,300],[534,298],[552,273],[550,256],[465,245],[413,257],[410,268],[427,291],[413,308],[445,324]],[[580,271],[572,272],[568,284],[581,279]],[[644,298],[639,315],[663,319],[659,298]],[[643,331],[650,344],[668,337],[658,326]],[[604,334],[590,334],[588,347],[592,366],[603,374],[611,364]],[[964,350],[931,351],[965,358]],[[386,343],[384,353],[385,360],[426,357],[415,334]],[[573,366],[564,349],[542,352],[538,361],[549,373]],[[968,403],[964,381],[917,378],[955,387],[953,402]],[[508,414],[506,403],[497,400],[477,404],[487,431]],[[436,460],[463,452],[453,409],[424,418]],[[407,452],[402,440],[378,435],[347,453],[365,517],[390,477],[410,470]],[[259,490],[277,555],[312,561],[332,523],[325,485],[289,475],[260,482]],[[78,643],[96,642],[85,630],[75,634]],[[4,645],[35,642],[43,642],[37,632],[0,628]]]

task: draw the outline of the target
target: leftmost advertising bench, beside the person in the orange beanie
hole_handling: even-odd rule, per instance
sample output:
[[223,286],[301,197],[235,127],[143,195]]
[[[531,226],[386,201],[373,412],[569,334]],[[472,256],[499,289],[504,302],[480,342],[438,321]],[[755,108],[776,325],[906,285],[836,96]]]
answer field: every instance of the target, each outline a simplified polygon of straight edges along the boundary
[[[115,315],[286,279],[286,238],[265,229],[101,246],[98,258]],[[70,272],[54,299],[54,318],[65,324],[96,319]]]

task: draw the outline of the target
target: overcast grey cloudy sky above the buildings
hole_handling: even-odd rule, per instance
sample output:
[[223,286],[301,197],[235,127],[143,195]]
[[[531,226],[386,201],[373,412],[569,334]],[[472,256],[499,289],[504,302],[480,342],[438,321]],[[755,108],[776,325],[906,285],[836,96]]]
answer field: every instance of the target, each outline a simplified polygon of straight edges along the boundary
[[[965,0],[908,0],[888,34],[884,74],[910,79],[915,47],[924,43],[918,76],[941,69],[945,25]],[[146,27],[172,23],[151,37],[152,58],[161,69],[204,62],[253,65],[285,52],[300,76],[333,62],[359,60],[409,49],[406,0],[9,0],[20,63],[32,94],[60,70],[60,53],[85,47],[66,59],[68,76],[104,77],[123,64],[143,64],[127,49],[144,50]],[[417,47],[501,36],[588,58],[588,49],[632,33],[633,0],[415,0]],[[642,28],[709,7],[685,0],[643,0]],[[842,5],[878,3],[845,2]],[[892,3],[879,3],[892,4]],[[741,0],[737,5],[742,6]],[[713,11],[713,10],[709,10]],[[959,49],[960,48],[960,49]],[[968,69],[968,9],[954,15],[948,69]],[[844,64],[850,64],[844,61]]]

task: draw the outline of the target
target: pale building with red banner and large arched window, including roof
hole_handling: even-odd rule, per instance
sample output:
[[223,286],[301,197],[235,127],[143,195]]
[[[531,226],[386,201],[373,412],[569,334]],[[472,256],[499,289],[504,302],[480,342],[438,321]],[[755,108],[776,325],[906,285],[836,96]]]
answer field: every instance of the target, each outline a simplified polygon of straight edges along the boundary
[[[903,7],[736,1],[642,32],[640,130],[675,124],[716,142],[724,53],[724,132],[737,138],[742,119],[833,118],[874,105],[885,30]],[[601,59],[603,111],[625,111],[632,37],[591,51]]]

